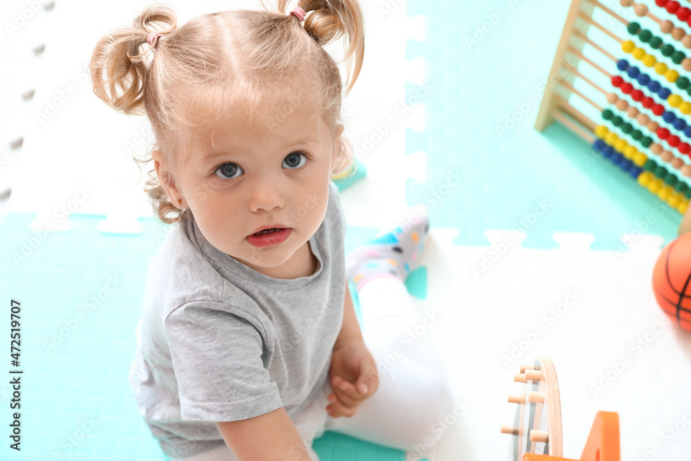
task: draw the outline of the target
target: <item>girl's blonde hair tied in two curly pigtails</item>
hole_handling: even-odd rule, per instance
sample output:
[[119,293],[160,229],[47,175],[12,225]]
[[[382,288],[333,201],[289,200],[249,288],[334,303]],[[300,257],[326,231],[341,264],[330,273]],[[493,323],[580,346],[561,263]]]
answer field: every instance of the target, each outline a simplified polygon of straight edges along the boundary
[[[280,123],[299,103],[314,102],[335,132],[341,100],[348,95],[362,66],[363,12],[357,0],[299,0],[307,13],[303,23],[287,13],[288,0],[275,11],[231,10],[191,19],[178,27],[168,6],[149,6],[133,27],[102,37],[91,56],[95,95],[126,115],[147,115],[155,135],[153,149],[161,151],[173,171],[158,178],[149,171],[144,191],[156,216],[175,224],[188,215],[167,198],[160,180],[174,184],[182,166],[187,135],[208,126],[223,111],[243,111],[260,131]],[[146,39],[160,32],[155,50]],[[343,37],[343,60],[348,79],[323,48]],[[274,113],[261,112],[261,102],[279,102]],[[211,110],[209,111],[209,106]],[[151,149],[153,151],[153,149]],[[142,160],[153,160],[151,151]],[[352,160],[352,147],[341,137],[332,175]]]

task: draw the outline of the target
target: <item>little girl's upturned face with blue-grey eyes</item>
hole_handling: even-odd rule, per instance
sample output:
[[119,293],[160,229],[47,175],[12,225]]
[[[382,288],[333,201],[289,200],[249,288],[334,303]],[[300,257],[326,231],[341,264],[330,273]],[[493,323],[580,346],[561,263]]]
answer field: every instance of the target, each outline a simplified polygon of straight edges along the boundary
[[[243,115],[220,118],[213,133],[193,140],[178,171],[180,208],[191,209],[202,234],[218,250],[263,274],[292,279],[291,274],[306,270],[301,266],[308,261],[307,241],[325,216],[342,132],[339,125],[332,133],[310,107],[298,109],[263,136]],[[290,228],[283,243],[256,247],[247,239],[259,227],[274,224]]]

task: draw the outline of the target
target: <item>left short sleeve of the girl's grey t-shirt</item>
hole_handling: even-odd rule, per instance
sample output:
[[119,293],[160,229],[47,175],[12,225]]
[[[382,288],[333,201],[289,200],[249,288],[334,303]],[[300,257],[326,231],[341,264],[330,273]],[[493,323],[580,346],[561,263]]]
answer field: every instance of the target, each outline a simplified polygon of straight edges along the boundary
[[183,420],[246,420],[283,406],[264,367],[260,332],[241,317],[247,312],[229,308],[236,309],[186,303],[165,321]]

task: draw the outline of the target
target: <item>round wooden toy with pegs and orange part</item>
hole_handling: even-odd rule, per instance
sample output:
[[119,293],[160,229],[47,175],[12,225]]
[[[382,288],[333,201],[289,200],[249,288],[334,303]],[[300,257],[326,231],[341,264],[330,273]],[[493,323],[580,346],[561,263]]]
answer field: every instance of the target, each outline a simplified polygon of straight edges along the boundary
[[[561,404],[556,371],[550,359],[536,357],[522,365],[513,377],[521,383],[518,395],[509,402],[518,404],[513,426],[502,433],[513,436],[512,461],[576,461],[562,458]],[[619,461],[619,416],[598,411],[579,460]]]

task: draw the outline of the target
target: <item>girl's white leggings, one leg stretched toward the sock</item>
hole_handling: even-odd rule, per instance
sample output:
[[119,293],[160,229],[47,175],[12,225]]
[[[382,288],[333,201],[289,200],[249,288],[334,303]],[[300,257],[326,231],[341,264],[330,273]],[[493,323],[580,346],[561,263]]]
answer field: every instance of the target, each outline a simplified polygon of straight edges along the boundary
[[[312,460],[312,441],[323,431],[422,454],[436,444],[457,411],[430,328],[435,312],[419,312],[406,285],[394,276],[369,281],[358,294],[365,344],[377,362],[379,388],[352,417],[326,412],[330,382],[305,410],[292,418]],[[227,446],[189,461],[237,461]]]

